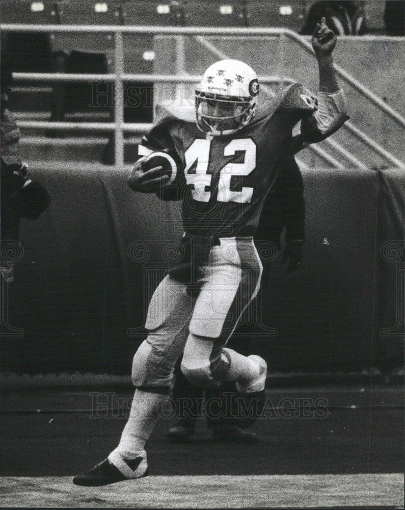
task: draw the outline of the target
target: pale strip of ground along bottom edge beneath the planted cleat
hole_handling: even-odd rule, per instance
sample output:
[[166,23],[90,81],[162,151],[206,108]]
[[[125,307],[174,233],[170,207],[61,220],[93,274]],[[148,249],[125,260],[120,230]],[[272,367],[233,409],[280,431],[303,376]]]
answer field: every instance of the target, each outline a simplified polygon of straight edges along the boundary
[[2,506],[113,508],[395,507],[403,475],[149,476],[101,488],[70,477],[4,477]]

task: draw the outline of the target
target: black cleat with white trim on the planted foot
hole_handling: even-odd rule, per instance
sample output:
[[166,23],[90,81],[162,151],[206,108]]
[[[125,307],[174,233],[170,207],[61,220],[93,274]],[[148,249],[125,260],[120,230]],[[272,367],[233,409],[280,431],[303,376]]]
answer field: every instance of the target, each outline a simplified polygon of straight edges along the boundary
[[[75,485],[85,487],[101,487],[109,483],[116,483],[117,481],[131,480],[133,478],[143,478],[148,475],[148,467],[145,457],[139,456],[133,460],[124,460],[120,458],[120,464],[123,464],[123,470],[127,473],[126,476],[108,458],[94,466],[93,469],[84,471],[73,478]],[[142,473],[142,474],[141,474]]]

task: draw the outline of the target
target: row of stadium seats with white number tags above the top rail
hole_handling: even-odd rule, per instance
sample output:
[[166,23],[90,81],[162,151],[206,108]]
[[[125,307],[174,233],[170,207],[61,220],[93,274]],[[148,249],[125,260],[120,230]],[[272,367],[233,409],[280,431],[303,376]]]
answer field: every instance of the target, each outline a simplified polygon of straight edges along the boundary
[[[3,23],[286,27],[299,31],[314,0],[3,0]],[[364,3],[369,33],[384,34],[385,1]]]

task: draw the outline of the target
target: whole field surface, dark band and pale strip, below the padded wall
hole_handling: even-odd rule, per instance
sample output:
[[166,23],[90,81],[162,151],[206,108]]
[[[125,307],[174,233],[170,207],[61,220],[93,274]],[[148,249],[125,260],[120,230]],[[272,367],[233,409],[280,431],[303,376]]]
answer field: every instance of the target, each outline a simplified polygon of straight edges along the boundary
[[[323,386],[267,391],[270,419],[255,443],[218,443],[199,418],[184,443],[161,419],[147,443],[151,475],[101,488],[72,484],[117,444],[130,389],[2,391],[2,507],[403,508],[403,393],[388,387]],[[94,415],[94,395],[110,400]],[[327,413],[280,414],[322,398]],[[121,399],[121,400],[120,400]],[[101,405],[102,404],[102,405]]]

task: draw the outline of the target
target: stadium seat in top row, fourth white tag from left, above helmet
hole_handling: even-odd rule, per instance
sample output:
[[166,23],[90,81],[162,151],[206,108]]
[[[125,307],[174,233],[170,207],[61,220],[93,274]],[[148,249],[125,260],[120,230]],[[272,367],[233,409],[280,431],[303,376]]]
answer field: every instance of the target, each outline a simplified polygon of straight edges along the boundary
[[195,0],[182,6],[185,25],[200,27],[245,27],[246,2]]

